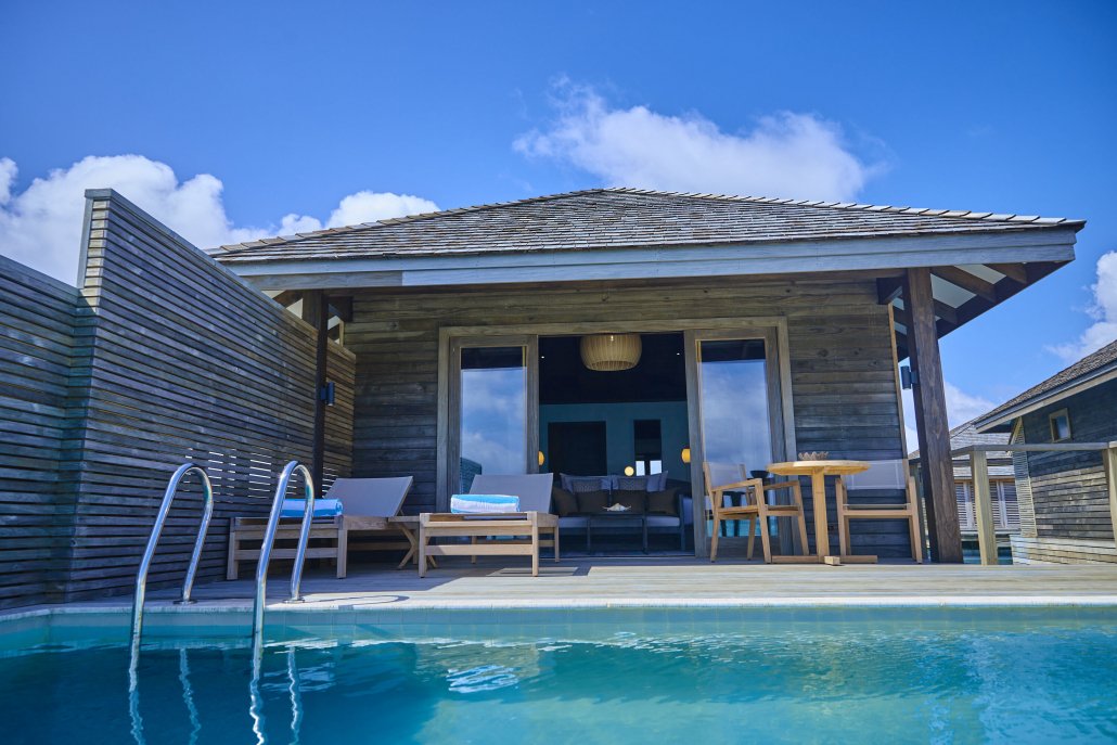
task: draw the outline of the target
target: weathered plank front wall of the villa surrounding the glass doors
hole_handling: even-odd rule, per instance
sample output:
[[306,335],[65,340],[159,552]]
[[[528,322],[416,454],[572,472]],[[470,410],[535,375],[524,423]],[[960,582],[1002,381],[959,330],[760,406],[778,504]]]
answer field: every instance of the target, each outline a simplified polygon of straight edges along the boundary
[[[799,450],[903,457],[888,313],[871,279],[378,288],[354,297],[345,327],[345,344],[356,354],[354,472],[414,475],[407,508],[435,507],[442,326],[608,322],[624,328],[649,319],[720,317],[739,317],[744,326],[773,315],[787,318]],[[859,520],[855,531],[859,551],[910,555],[904,523]]]

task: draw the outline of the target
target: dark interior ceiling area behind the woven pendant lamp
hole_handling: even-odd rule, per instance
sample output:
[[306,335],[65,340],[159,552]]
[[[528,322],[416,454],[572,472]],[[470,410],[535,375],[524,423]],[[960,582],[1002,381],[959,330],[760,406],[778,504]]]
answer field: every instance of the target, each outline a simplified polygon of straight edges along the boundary
[[631,370],[594,372],[582,364],[581,336],[540,337],[540,403],[686,401],[682,334],[640,334]]

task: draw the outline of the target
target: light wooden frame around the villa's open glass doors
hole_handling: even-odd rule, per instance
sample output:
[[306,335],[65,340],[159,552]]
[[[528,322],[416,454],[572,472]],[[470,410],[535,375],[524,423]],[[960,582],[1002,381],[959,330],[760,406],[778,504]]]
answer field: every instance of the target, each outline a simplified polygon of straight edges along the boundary
[[[792,405],[791,389],[791,364],[790,343],[787,335],[787,318],[785,316],[751,316],[751,317],[724,317],[715,316],[709,318],[675,318],[666,321],[608,321],[608,322],[576,322],[576,323],[536,323],[536,324],[510,324],[500,326],[442,326],[438,332],[438,430],[437,430],[437,476],[435,500],[437,509],[443,509],[449,504],[449,474],[450,474],[450,432],[455,431],[452,424],[460,427],[460,419],[457,418],[455,408],[457,393],[451,395],[451,382],[459,380],[460,372],[456,364],[460,364],[460,354],[454,353],[454,342],[456,340],[468,340],[470,346],[495,346],[504,343],[504,340],[518,340],[509,343],[509,346],[524,344],[529,340],[532,344],[532,356],[528,357],[528,410],[529,423],[528,446],[533,443],[535,450],[529,450],[533,456],[538,450],[538,337],[540,336],[573,336],[582,334],[603,333],[641,333],[641,334],[679,334],[684,335],[684,347],[687,366],[687,416],[690,432],[690,491],[693,497],[694,525],[695,525],[695,554],[707,555],[706,550],[706,525],[701,519],[705,512],[705,484],[701,475],[701,427],[700,419],[696,419],[700,402],[697,400],[698,393],[698,370],[697,346],[698,336],[700,338],[713,338],[713,334],[724,334],[723,338],[763,338],[765,341],[765,354],[772,352],[776,364],[768,365],[768,412],[770,417],[777,417],[780,427],[773,429],[773,450],[776,449],[779,439],[782,446],[780,457],[789,457],[795,452],[795,418]],[[698,336],[696,336],[698,335]],[[460,347],[458,347],[460,348]],[[779,395],[773,400],[773,383],[779,391]],[[454,421],[451,421],[451,418]],[[775,432],[782,431],[782,438],[777,438]],[[696,438],[697,432],[697,438]],[[538,461],[528,457],[528,472],[538,471]],[[766,465],[766,464],[765,464]],[[699,524],[701,527],[698,527]],[[700,539],[699,539],[700,538]]]

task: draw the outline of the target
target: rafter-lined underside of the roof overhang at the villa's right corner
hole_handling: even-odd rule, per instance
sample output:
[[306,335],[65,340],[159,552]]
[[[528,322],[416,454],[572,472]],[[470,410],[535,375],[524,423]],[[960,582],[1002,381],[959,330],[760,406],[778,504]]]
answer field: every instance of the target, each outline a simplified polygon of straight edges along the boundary
[[[935,329],[943,337],[963,324],[1009,299],[1024,287],[1048,276],[1066,261],[1023,264],[963,264],[932,267],[930,287],[935,299]],[[908,356],[908,314],[899,276],[877,280],[882,305],[892,306],[892,333],[900,360]]]

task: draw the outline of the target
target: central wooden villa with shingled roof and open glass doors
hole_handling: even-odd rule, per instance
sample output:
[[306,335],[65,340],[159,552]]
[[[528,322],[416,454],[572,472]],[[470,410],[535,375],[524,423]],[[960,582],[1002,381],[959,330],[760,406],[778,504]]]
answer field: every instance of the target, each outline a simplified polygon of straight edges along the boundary
[[[698,495],[704,457],[748,468],[804,450],[903,458],[897,361],[910,355],[932,552],[961,561],[937,340],[1072,260],[1082,225],[593,189],[213,256],[283,303],[324,297],[343,318],[340,337],[356,355],[354,472],[414,475],[412,512],[446,508],[462,458],[537,470],[544,418],[584,422],[585,437],[608,442],[611,472],[626,459],[659,464]],[[599,334],[640,335],[648,356],[598,373],[617,378],[591,393],[552,363]],[[579,405],[556,394],[564,385],[585,391],[581,413],[557,411]],[[662,413],[623,409],[626,391]],[[660,448],[643,438],[614,450],[608,428],[591,426],[599,419],[645,430],[658,420]],[[704,520],[694,529],[701,553]],[[855,532],[859,552],[908,555],[903,525]]]

